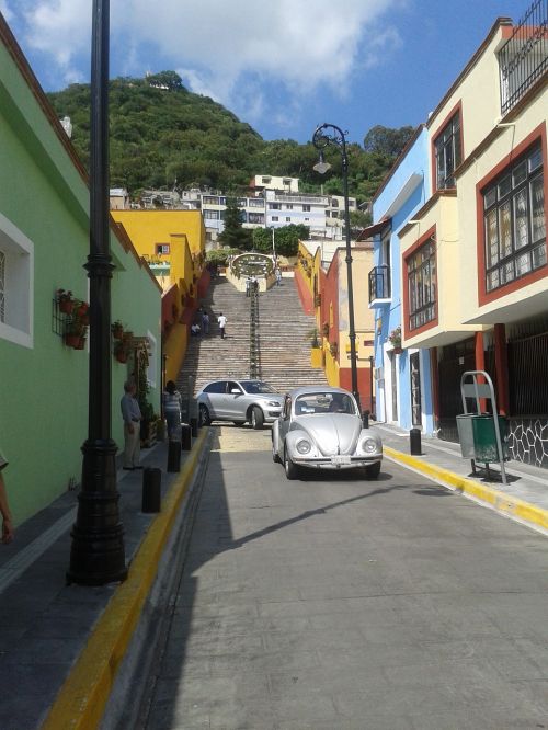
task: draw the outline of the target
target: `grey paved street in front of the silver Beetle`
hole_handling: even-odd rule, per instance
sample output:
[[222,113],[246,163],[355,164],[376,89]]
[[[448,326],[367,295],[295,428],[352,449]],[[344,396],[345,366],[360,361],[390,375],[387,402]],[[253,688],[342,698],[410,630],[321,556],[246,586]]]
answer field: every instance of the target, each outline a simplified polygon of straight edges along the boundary
[[289,482],[269,430],[215,431],[146,727],[548,728],[545,537],[389,460]]

